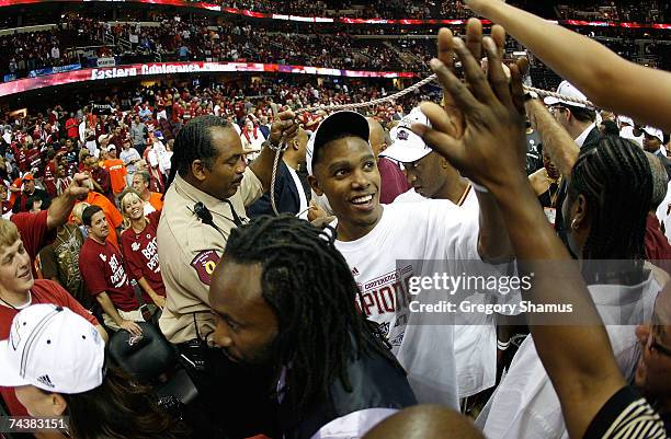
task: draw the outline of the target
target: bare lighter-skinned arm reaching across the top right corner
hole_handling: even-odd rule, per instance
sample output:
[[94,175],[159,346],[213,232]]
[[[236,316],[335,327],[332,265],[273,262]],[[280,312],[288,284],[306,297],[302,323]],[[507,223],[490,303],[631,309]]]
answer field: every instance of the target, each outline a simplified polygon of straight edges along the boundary
[[500,0],[465,0],[595,105],[671,131],[671,73],[629,62],[605,46]]

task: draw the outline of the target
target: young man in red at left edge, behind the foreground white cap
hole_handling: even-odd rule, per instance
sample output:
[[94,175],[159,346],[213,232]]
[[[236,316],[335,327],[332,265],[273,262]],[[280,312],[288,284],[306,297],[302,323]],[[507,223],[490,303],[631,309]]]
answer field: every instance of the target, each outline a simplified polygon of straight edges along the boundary
[[[0,219],[0,339],[7,339],[14,315],[34,303],[53,303],[69,308],[81,315],[107,339],[107,333],[98,321],[62,287],[52,280],[35,280],[31,270],[32,257],[24,246],[16,224]],[[16,400],[14,388],[0,388],[10,415],[29,416]]]

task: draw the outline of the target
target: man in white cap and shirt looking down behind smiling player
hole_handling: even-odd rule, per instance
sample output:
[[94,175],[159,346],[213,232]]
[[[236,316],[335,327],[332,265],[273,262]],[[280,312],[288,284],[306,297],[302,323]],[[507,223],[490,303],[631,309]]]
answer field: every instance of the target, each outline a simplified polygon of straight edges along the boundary
[[[394,200],[395,204],[444,199],[477,218],[480,210],[478,197],[467,178],[412,132],[409,125],[393,128],[390,135],[393,143],[383,154],[403,164],[408,182],[412,185],[410,190]],[[486,299],[485,294],[468,298],[477,303],[488,302]],[[469,315],[467,322],[459,323],[454,328],[454,350],[459,400],[463,400],[496,384],[497,319],[494,313],[478,313]],[[508,343],[509,337],[504,338],[501,342]]]

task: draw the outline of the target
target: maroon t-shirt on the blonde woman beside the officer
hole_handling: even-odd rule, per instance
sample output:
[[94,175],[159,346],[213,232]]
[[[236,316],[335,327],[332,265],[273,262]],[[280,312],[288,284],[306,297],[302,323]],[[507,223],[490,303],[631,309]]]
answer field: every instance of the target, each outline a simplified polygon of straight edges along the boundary
[[[166,286],[161,277],[156,246],[156,229],[160,217],[160,210],[149,213],[147,216],[149,223],[141,233],[136,233],[133,228],[126,229],[122,233],[122,253],[130,276],[135,279],[144,277],[153,291],[164,297]],[[145,291],[143,291],[143,298],[145,302],[153,303]]]

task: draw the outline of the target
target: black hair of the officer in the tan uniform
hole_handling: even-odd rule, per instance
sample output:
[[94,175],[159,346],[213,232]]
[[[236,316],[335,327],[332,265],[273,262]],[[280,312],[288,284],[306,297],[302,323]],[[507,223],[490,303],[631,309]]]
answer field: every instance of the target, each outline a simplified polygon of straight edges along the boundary
[[181,176],[189,173],[194,160],[202,160],[205,166],[213,166],[216,151],[212,145],[212,129],[216,127],[231,128],[231,125],[221,117],[206,115],[190,120],[180,129],[172,146],[170,175],[168,175],[166,190],[178,172]]

